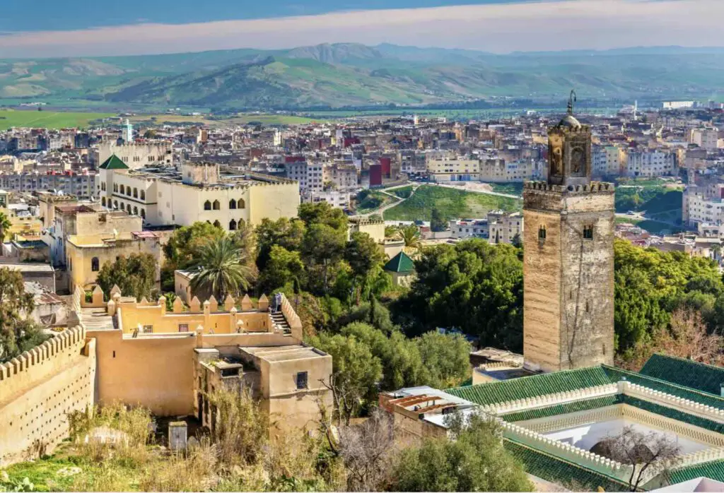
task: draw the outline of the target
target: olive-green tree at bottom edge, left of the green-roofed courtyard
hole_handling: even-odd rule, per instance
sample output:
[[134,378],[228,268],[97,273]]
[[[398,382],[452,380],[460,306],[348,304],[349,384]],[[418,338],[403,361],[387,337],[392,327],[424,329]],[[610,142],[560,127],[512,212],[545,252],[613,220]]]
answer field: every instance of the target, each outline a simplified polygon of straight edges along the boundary
[[426,438],[400,453],[392,474],[397,492],[526,492],[532,485],[508,454],[494,421],[477,415],[455,440]]

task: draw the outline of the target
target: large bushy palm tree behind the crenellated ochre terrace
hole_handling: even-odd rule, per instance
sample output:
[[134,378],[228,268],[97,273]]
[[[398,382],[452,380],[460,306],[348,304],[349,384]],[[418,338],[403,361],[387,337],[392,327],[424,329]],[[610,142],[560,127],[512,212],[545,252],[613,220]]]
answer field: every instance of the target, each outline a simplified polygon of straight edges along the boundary
[[253,270],[248,252],[230,236],[203,244],[193,264],[196,275],[191,280],[193,291],[213,294],[222,301],[228,294],[247,291]]

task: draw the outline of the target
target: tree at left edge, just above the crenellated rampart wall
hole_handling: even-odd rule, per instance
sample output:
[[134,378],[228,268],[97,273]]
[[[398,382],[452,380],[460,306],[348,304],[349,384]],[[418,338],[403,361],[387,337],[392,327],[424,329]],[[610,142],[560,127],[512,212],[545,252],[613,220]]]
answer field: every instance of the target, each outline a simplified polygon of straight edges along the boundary
[[49,338],[26,317],[33,312],[33,295],[25,292],[22,274],[0,268],[0,363],[9,361]]

